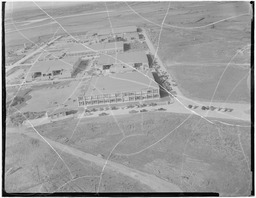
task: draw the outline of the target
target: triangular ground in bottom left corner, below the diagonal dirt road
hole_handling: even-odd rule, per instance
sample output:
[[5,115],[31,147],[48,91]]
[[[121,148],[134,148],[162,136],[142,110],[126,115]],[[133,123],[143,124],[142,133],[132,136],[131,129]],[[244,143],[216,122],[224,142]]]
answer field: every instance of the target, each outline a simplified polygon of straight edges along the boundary
[[[60,151],[58,151],[60,152]],[[7,192],[96,192],[102,167],[63,153],[73,179],[56,153],[46,144],[17,133],[7,134],[5,186]],[[71,181],[72,179],[72,181]],[[111,182],[110,182],[111,181]],[[105,171],[101,192],[149,192],[148,187]]]

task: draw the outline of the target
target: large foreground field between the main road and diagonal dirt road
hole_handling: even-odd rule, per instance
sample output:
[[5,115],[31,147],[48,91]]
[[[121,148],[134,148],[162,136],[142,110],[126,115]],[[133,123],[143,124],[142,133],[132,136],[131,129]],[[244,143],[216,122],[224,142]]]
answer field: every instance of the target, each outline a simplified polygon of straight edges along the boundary
[[186,118],[187,115],[145,113],[143,117],[82,119],[75,131],[78,120],[55,122],[37,130],[45,137],[95,156],[100,154],[104,159],[122,139],[123,132],[127,138],[115,148],[111,161],[153,173],[184,191],[248,194],[250,128],[211,125],[192,116],[171,132]]

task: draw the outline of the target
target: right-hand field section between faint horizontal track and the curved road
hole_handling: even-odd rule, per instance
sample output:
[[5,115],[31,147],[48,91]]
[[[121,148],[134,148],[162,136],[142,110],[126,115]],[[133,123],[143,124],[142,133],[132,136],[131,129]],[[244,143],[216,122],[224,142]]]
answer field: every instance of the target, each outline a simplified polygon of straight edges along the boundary
[[[182,93],[188,98],[210,101],[225,67],[172,66],[173,75]],[[213,101],[250,102],[247,87],[248,69],[228,67],[222,76]],[[242,80],[238,85],[237,83]],[[237,85],[237,87],[236,87]],[[200,89],[199,89],[200,87]],[[235,88],[233,90],[233,88]]]

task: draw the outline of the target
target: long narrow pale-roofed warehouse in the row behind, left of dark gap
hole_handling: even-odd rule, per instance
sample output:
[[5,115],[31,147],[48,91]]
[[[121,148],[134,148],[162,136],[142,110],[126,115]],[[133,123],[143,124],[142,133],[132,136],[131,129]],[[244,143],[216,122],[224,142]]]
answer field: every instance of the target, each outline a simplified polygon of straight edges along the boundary
[[82,44],[73,43],[68,51],[66,52],[66,56],[84,56],[95,53],[107,53],[112,54],[115,52],[123,52],[124,44],[123,42],[116,43],[96,43],[93,45],[84,46]]

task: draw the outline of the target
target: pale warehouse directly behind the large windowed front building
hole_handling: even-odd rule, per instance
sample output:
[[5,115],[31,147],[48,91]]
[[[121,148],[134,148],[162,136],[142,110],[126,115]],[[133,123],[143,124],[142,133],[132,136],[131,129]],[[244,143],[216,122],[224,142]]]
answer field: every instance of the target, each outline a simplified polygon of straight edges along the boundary
[[117,56],[101,54],[97,60],[97,65],[102,70],[109,69],[110,71],[149,68],[148,58],[144,51],[118,53]]

